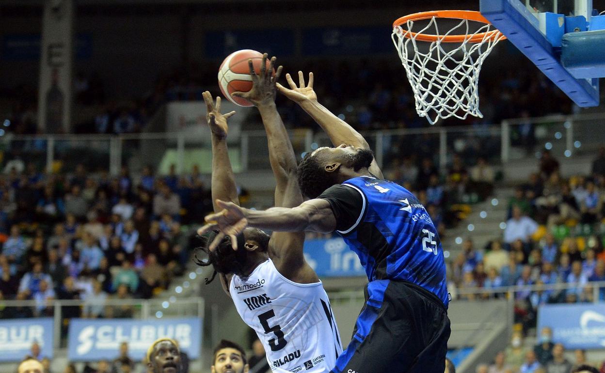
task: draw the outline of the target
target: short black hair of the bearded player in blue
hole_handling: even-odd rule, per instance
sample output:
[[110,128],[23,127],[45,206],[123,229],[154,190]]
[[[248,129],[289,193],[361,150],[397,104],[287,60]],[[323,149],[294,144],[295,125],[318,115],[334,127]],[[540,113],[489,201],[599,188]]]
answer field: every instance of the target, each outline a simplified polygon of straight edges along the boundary
[[317,198],[324,190],[336,184],[335,172],[327,172],[323,166],[324,157],[321,151],[309,152],[298,164],[298,186],[302,195],[307,198]]

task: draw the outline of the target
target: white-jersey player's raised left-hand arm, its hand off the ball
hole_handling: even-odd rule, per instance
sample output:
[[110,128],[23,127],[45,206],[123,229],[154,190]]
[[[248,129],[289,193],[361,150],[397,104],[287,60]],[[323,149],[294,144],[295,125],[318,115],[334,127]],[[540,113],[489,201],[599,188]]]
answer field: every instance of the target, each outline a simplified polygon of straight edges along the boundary
[[[221,98],[217,97],[217,103],[214,104],[210,92],[202,94],[206,102],[206,122],[212,133],[212,207],[214,212],[219,212],[220,207],[214,202],[217,199],[224,199],[234,204],[239,204],[237,197],[237,186],[235,186],[235,176],[229,161],[227,152],[227,119],[235,114],[235,111],[227,114],[221,114]],[[231,276],[220,274],[221,287],[228,296],[229,281]]]

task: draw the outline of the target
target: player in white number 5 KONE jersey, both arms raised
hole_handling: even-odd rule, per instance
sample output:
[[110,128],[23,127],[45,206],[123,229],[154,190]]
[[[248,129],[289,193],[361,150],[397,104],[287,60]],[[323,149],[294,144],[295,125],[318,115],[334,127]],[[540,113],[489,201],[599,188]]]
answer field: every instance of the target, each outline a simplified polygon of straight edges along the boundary
[[[275,107],[275,82],[281,66],[271,76],[275,57],[267,70],[265,54],[257,76],[250,61],[253,88],[234,95],[257,106],[269,143],[269,158],[276,178],[275,206],[294,207],[302,203],[292,144]],[[220,97],[216,106],[209,92],[204,92],[208,124],[212,131],[212,199],[238,203],[234,175],[227,157],[227,118],[234,112],[220,114]],[[215,205],[215,212],[220,209]],[[329,372],[342,352],[330,302],[315,271],[302,254],[303,232],[273,233],[244,230],[243,236],[224,236],[217,250],[209,252],[208,261],[221,284],[232,297],[244,322],[253,328],[263,343],[273,372]],[[212,242],[217,236],[209,237]],[[238,242],[238,250],[232,250]],[[209,282],[208,281],[208,282]]]

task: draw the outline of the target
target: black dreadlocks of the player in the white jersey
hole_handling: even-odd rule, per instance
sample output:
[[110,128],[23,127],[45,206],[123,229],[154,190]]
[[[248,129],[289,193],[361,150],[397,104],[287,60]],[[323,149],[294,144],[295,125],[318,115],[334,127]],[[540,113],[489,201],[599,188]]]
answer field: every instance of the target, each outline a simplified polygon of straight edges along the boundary
[[201,247],[198,247],[197,250],[201,250],[206,253],[206,255],[208,255],[208,259],[204,261],[198,258],[197,254],[195,255],[195,264],[200,265],[201,267],[207,267],[208,265],[212,265],[212,267],[214,267],[212,276],[204,279],[206,285],[210,284],[214,280],[214,277],[217,276],[217,273],[234,273],[239,276],[242,275],[246,265],[247,250],[244,248],[246,239],[256,241],[261,251],[267,251],[267,248],[269,247],[270,236],[267,235],[267,233],[264,233],[260,229],[247,228],[244,230],[244,233],[237,236],[237,246],[239,247],[238,250],[233,250],[231,246],[231,238],[229,238],[229,236],[225,236],[221,240],[220,244],[218,244],[217,248],[214,251],[210,251],[210,244],[212,241],[214,241],[214,238],[217,235],[218,232],[213,231],[210,232],[208,236],[200,236],[200,238],[203,240],[203,244]]

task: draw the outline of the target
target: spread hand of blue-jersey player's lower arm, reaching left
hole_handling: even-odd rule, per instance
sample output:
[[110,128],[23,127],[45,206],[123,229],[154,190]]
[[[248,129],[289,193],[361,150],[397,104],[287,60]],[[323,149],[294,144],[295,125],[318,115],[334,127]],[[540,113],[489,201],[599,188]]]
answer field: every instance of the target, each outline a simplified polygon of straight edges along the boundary
[[231,245],[234,250],[237,250],[237,235],[244,231],[248,225],[248,221],[244,218],[241,207],[235,203],[224,202],[217,199],[217,206],[221,207],[223,210],[206,216],[206,218],[204,218],[206,225],[198,229],[197,234],[201,236],[212,229],[218,229],[220,233],[218,233],[217,237],[212,241],[209,250],[214,251],[224,236],[231,237]]

